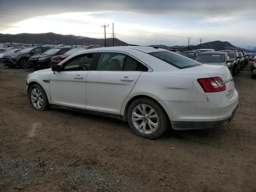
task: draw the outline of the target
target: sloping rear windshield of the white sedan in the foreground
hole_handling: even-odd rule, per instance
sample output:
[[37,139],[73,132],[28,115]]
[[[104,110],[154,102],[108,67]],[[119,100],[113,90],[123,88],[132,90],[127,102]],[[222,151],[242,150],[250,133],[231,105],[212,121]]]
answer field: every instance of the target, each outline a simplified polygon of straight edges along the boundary
[[184,68],[190,68],[190,67],[195,67],[201,65],[200,63],[191,60],[186,57],[182,57],[177,53],[173,53],[170,51],[158,51],[158,52],[152,52],[148,53],[168,64],[171,64],[174,67],[177,67],[179,69],[184,69]]

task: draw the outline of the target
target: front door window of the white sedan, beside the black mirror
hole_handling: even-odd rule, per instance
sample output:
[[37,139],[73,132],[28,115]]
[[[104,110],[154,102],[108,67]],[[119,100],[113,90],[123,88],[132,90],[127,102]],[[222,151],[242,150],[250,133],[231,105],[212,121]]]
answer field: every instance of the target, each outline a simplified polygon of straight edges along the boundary
[[65,64],[64,71],[88,70],[92,64],[94,53],[79,56]]

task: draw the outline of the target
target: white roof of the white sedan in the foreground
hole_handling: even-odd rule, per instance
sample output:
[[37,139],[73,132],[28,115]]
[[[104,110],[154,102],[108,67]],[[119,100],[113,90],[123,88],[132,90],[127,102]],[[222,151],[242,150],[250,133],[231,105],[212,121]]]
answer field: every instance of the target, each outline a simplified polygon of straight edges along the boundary
[[150,52],[158,52],[158,51],[168,51],[161,48],[154,48],[154,47],[146,47],[146,46],[118,46],[118,47],[101,47],[101,48],[92,48],[80,51],[81,52],[88,52],[88,51],[126,51],[127,49],[130,50],[138,50],[144,53]]

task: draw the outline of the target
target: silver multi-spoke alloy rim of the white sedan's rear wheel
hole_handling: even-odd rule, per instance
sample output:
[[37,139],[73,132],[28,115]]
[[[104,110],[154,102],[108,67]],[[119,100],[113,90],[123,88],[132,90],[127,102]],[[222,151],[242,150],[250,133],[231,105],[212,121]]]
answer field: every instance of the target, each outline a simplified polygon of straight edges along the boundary
[[158,128],[158,115],[152,107],[140,104],[132,111],[132,122],[138,131],[151,134]]

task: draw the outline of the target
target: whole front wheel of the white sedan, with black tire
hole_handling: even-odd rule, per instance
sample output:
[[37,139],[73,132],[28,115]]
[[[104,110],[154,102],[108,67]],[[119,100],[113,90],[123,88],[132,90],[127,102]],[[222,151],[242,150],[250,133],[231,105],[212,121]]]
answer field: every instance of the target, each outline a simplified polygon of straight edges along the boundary
[[47,95],[39,84],[33,84],[30,87],[28,92],[28,99],[33,109],[39,111],[45,111],[48,109],[49,102]]

